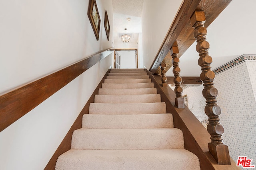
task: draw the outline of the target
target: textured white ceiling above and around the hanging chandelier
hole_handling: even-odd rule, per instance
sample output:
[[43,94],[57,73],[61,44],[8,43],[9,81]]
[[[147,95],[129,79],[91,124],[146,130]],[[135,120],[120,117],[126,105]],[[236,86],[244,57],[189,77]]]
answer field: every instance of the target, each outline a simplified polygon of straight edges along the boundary
[[[141,14],[143,0],[112,0],[114,9],[114,43],[120,42],[118,33],[133,33],[134,37],[130,42],[138,41],[138,33],[141,33]],[[127,20],[130,18],[130,21]]]

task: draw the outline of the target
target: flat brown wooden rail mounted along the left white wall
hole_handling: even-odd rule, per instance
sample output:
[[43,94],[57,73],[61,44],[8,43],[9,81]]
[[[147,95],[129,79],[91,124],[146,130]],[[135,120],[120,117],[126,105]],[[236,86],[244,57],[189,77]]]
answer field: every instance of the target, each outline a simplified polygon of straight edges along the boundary
[[100,51],[77,63],[0,96],[0,132],[113,51]]

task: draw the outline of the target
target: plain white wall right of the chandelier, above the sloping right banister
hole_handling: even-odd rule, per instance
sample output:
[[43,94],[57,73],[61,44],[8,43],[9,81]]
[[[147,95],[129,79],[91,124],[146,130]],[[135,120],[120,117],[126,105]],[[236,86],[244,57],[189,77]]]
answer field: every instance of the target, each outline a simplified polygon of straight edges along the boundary
[[144,0],[142,10],[143,62],[152,65],[182,0]]

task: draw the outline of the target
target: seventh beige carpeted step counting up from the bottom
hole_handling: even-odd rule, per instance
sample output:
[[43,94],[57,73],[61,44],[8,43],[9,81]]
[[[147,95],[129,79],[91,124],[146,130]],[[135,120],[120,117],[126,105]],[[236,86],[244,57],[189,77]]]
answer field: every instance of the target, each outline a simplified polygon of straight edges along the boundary
[[102,83],[101,88],[154,88],[154,83]]

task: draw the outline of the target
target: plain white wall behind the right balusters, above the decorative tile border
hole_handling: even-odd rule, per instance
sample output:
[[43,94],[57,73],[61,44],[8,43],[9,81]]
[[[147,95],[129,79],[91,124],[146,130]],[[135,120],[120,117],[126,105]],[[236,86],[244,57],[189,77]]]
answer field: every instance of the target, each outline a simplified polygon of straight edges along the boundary
[[[212,68],[243,55],[256,54],[256,1],[232,0],[207,28]],[[196,42],[180,57],[181,76],[200,76]],[[167,76],[173,76],[172,69]]]

